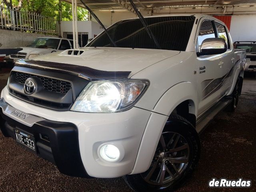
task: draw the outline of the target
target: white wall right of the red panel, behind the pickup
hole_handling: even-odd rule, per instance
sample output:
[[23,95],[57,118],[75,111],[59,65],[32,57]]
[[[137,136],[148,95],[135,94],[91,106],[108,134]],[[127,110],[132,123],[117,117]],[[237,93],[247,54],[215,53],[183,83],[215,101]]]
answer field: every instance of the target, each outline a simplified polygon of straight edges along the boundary
[[256,41],[256,15],[233,15],[230,35],[235,41]]

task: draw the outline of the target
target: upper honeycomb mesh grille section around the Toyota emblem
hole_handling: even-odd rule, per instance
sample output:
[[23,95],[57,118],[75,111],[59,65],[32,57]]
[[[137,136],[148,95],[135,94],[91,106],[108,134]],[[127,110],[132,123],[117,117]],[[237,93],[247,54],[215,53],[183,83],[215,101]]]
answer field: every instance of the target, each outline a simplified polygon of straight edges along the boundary
[[24,84],[25,81],[30,77],[36,77],[40,79],[45,90],[56,92],[56,93],[66,94],[71,89],[70,82],[66,82],[58,79],[53,79],[53,78],[23,73],[23,72],[14,72],[14,76],[16,81],[21,84]]

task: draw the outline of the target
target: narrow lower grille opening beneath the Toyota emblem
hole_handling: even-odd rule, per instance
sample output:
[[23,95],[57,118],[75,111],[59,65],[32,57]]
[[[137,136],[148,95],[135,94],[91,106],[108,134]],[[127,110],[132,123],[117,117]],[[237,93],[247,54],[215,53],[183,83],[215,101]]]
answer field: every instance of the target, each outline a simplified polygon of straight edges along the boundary
[[14,96],[17,96],[19,98],[22,98],[24,100],[39,104],[39,105],[44,105],[44,106],[48,106],[50,108],[56,108],[56,109],[68,109],[70,108],[70,103],[56,103],[56,102],[50,102],[50,101],[46,101],[46,100],[42,100],[42,99],[38,99],[38,98],[34,98],[31,96],[27,96],[25,94],[21,94],[19,92],[16,92],[12,89],[10,89],[10,93],[13,94]]

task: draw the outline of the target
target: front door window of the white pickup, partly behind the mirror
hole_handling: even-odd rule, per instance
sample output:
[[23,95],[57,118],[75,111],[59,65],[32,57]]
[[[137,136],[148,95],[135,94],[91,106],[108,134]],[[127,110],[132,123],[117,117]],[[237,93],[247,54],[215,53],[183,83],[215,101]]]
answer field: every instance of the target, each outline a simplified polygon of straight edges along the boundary
[[203,40],[207,38],[215,38],[214,27],[211,20],[204,20],[200,26],[198,34],[198,46],[200,48]]

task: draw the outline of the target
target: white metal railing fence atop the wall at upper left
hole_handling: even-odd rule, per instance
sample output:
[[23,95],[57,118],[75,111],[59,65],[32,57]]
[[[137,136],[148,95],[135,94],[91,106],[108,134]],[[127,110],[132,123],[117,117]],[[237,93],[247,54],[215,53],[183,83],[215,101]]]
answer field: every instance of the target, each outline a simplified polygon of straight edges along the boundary
[[32,12],[0,6],[0,29],[33,32],[42,34],[59,34],[58,21]]

